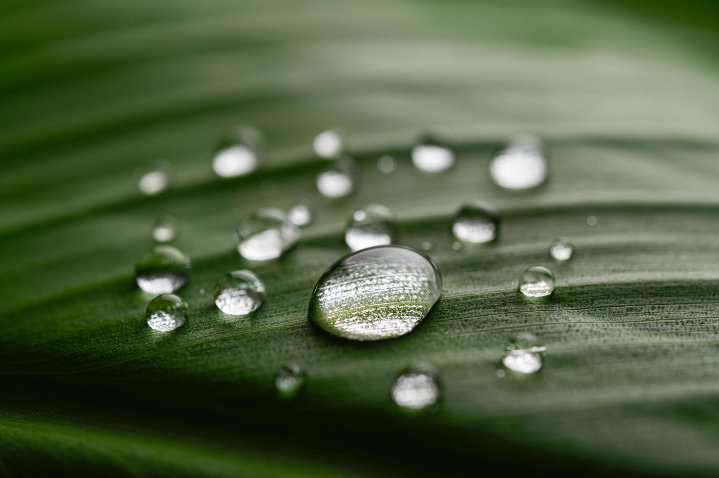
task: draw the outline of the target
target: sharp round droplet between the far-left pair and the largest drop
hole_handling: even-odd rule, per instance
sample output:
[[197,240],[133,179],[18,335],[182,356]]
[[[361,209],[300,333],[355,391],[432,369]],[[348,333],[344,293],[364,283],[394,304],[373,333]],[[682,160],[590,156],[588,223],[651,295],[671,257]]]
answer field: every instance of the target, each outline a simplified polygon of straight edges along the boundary
[[215,305],[230,316],[256,311],[262,300],[265,300],[265,284],[251,270],[228,272],[215,285]]

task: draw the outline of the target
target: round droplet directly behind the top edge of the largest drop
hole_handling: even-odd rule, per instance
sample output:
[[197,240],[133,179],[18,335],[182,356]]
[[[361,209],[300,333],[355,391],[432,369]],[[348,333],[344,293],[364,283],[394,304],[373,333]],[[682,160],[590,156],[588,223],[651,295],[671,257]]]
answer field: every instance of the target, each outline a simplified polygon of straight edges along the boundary
[[353,251],[392,244],[395,216],[381,204],[368,204],[352,213],[344,230],[344,242]]

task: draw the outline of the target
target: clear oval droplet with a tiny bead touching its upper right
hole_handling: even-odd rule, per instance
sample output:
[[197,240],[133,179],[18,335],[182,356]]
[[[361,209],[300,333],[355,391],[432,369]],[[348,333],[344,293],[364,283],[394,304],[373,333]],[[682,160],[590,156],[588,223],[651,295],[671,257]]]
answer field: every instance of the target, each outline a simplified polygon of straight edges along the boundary
[[237,252],[245,259],[265,261],[280,257],[295,245],[300,233],[278,208],[260,208],[237,227]]

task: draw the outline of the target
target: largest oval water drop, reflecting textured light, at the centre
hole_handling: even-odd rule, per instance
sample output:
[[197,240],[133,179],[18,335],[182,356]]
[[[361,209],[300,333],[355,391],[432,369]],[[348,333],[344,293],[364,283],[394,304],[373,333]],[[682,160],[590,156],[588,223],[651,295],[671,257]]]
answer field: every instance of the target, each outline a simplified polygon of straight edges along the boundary
[[441,292],[441,274],[426,255],[408,247],[372,247],[324,272],[308,318],[339,337],[390,339],[412,331]]

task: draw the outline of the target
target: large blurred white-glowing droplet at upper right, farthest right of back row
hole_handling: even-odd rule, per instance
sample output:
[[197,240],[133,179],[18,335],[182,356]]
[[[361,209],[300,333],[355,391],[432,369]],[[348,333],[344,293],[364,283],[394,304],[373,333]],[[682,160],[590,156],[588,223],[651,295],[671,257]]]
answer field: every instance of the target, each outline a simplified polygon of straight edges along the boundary
[[501,188],[536,188],[546,181],[549,163],[539,139],[523,135],[497,152],[490,161],[490,177]]

